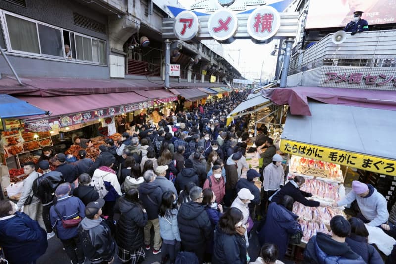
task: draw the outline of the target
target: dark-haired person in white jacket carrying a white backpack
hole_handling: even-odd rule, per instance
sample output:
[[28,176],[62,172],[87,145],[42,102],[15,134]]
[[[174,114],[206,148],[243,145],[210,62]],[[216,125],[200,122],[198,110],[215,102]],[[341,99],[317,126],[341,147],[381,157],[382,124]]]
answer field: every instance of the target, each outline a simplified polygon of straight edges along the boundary
[[102,209],[103,215],[108,216],[108,220],[113,220],[115,202],[122,195],[121,186],[115,171],[111,169],[114,165],[115,157],[108,152],[103,152],[101,156],[102,166],[94,171],[91,186],[94,186],[99,193],[99,197],[105,201]]

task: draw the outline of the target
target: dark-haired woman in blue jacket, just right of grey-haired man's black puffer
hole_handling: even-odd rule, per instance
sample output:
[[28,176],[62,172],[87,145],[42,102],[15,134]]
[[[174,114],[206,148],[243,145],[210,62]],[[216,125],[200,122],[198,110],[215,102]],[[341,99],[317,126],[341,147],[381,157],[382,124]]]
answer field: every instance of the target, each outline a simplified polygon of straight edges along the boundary
[[210,223],[212,224],[212,232],[210,233],[209,241],[206,243],[206,251],[204,257],[204,262],[211,262],[213,253],[214,229],[216,228],[220,217],[223,215],[223,207],[221,204],[218,204],[216,202],[216,195],[209,188],[203,189],[202,205],[205,207],[206,213],[209,216]]

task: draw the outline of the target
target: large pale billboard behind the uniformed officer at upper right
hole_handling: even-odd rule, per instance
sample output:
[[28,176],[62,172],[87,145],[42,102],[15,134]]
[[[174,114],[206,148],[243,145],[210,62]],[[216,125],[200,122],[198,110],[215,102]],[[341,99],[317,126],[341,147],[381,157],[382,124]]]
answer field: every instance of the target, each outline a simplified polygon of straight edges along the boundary
[[[326,11],[326,14],[324,14]],[[395,23],[395,0],[310,0],[306,29],[345,27],[353,20],[354,11],[370,25]]]

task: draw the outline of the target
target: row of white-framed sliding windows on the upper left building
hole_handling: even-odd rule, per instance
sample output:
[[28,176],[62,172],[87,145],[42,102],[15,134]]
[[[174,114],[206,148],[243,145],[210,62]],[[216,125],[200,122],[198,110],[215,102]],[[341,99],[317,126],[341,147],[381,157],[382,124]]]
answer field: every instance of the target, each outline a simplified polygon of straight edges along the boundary
[[[1,11],[1,10],[0,10]],[[3,11],[8,51],[106,64],[106,42]],[[5,44],[5,43],[4,43]],[[5,48],[5,45],[4,47]]]

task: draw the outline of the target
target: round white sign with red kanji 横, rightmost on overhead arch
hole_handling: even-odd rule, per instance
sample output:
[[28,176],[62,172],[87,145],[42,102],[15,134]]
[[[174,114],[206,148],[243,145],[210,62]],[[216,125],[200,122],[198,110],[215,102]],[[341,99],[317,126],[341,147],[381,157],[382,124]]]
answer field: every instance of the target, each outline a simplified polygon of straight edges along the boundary
[[258,41],[272,38],[281,25],[281,16],[271,6],[261,6],[250,14],[247,19],[247,32]]

